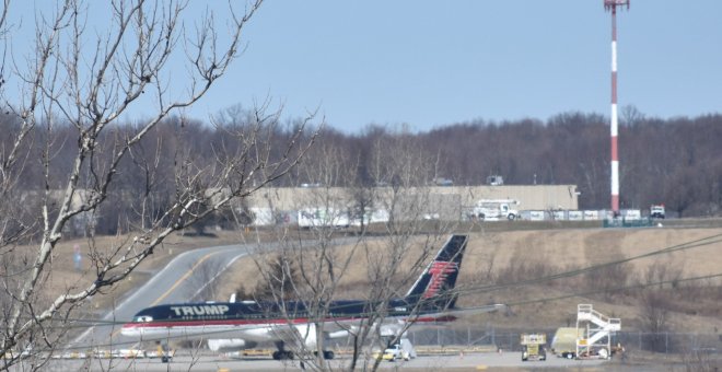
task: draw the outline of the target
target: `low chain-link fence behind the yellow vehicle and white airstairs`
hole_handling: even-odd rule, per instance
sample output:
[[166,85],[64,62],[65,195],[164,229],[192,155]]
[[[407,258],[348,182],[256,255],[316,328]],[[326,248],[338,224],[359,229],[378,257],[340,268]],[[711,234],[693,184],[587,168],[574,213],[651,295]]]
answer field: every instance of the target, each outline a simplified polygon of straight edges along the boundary
[[[519,351],[521,350],[520,339],[523,333],[544,333],[547,335],[547,345],[550,345],[556,328],[529,329],[528,332],[473,326],[419,330],[411,328],[407,333],[407,337],[415,346],[464,346],[473,348],[492,345],[497,349]],[[618,332],[613,336],[612,344],[621,344],[627,351],[722,353],[722,334],[720,333]]]

